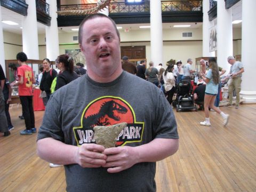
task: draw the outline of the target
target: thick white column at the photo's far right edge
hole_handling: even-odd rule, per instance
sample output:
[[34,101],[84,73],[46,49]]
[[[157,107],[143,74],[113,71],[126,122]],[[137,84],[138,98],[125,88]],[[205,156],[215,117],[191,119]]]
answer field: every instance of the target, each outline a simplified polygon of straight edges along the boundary
[[245,99],[245,103],[256,103],[256,86],[253,81],[256,72],[255,7],[255,0],[243,0],[242,2],[242,63],[244,73],[240,95]]

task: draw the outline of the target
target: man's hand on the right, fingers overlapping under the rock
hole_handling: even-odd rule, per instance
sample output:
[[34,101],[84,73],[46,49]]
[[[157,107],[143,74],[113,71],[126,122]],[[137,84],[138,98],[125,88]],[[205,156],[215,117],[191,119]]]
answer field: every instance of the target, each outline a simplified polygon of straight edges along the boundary
[[109,173],[117,173],[139,163],[139,155],[135,151],[135,147],[124,146],[108,148],[103,151],[103,154],[107,155],[107,163],[103,165],[103,167],[111,167],[108,168]]

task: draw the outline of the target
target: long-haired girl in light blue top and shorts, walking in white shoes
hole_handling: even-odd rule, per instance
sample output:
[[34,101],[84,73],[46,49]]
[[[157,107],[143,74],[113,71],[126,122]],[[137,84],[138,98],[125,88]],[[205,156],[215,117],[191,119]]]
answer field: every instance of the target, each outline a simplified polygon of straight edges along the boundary
[[206,76],[201,74],[204,82],[206,83],[205,95],[204,95],[204,113],[205,121],[200,122],[200,125],[211,126],[209,117],[209,107],[220,114],[224,120],[223,125],[228,123],[229,115],[223,113],[219,108],[214,106],[215,98],[218,94],[218,86],[220,81],[219,68],[215,58],[209,58],[209,71]]

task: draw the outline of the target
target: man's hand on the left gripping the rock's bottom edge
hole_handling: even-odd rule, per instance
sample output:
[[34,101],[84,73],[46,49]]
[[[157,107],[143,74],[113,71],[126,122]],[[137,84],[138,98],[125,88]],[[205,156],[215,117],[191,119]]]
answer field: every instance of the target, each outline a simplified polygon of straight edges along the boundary
[[106,164],[107,155],[102,154],[105,148],[101,145],[83,144],[77,149],[76,162],[82,167],[100,167]]

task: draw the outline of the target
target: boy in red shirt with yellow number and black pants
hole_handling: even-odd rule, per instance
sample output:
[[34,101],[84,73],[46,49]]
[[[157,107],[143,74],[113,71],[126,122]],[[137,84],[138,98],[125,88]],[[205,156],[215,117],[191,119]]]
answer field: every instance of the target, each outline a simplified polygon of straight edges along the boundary
[[32,68],[26,63],[28,60],[27,55],[23,52],[19,52],[16,58],[20,65],[18,70],[19,81],[15,82],[13,85],[19,86],[19,97],[26,124],[26,129],[20,131],[20,134],[31,135],[32,133],[36,133],[32,92],[32,85],[36,81]]

